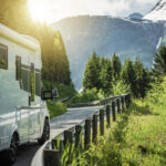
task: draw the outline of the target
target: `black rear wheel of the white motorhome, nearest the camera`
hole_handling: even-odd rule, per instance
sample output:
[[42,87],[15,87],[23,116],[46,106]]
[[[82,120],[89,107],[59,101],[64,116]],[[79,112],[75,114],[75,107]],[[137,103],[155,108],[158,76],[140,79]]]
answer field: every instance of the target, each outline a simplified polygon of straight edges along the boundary
[[7,152],[6,158],[8,159],[8,164],[13,164],[17,160],[19,139],[17,134],[13,134],[10,143],[10,148]]

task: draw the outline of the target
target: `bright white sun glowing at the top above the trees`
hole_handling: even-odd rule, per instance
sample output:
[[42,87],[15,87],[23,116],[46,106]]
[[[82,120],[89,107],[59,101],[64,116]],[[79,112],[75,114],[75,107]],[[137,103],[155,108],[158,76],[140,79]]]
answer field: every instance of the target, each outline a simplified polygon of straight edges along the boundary
[[39,1],[29,0],[29,10],[33,20],[46,22],[45,6]]

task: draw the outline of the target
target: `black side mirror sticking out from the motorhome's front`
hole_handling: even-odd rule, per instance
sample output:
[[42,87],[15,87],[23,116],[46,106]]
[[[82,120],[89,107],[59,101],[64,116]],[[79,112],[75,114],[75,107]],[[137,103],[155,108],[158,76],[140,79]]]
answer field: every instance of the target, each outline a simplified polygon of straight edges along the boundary
[[46,100],[55,100],[59,97],[59,92],[58,89],[53,89],[52,91],[42,91],[42,100],[46,101]]

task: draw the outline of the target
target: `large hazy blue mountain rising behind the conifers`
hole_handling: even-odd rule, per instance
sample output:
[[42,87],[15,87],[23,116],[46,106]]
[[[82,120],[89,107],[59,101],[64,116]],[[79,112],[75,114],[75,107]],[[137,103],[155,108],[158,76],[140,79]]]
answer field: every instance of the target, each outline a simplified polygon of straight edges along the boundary
[[147,68],[152,68],[156,50],[162,43],[166,43],[166,27],[164,21],[151,21],[145,18],[142,19],[138,13],[126,19],[80,15],[51,24],[63,35],[72,79],[77,90],[82,87],[84,68],[93,50],[107,58],[115,52],[122,62],[126,58],[139,58]]

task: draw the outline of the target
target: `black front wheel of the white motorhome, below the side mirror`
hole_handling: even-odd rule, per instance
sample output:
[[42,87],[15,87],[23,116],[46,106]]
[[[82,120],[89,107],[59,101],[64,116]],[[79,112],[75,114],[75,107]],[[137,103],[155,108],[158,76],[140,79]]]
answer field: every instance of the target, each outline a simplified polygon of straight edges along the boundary
[[46,118],[44,122],[42,136],[40,139],[38,139],[38,143],[40,145],[43,145],[46,141],[49,141],[49,138],[50,138],[50,124],[49,124],[49,120]]

